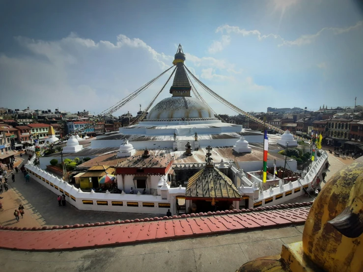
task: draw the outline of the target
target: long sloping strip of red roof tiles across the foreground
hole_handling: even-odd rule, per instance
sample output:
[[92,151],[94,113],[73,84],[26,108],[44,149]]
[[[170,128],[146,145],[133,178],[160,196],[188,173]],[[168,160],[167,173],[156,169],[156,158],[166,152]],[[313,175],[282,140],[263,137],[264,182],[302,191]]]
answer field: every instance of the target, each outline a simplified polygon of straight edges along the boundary
[[[64,250],[193,237],[228,231],[304,223],[311,203],[288,204],[173,218],[145,218],[56,226],[52,230],[0,228],[0,247],[20,250]],[[56,229],[58,228],[58,229]]]

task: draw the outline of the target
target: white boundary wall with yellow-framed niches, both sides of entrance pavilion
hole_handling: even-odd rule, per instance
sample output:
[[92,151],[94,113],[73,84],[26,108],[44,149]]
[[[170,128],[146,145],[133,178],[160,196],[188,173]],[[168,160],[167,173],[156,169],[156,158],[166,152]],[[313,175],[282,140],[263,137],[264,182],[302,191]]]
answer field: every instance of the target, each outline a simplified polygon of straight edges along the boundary
[[[185,195],[186,191],[186,188],[168,188],[166,199],[162,199],[161,195],[83,192],[81,189],[77,189],[62,179],[33,165],[34,160],[35,156],[25,165],[30,176],[56,195],[64,193],[66,201],[79,210],[166,214],[168,209],[170,209],[170,212],[175,214],[175,197]],[[315,183],[316,178],[324,171],[327,160],[328,154],[326,151],[322,151],[322,155],[314,162],[304,179],[285,184],[282,187],[273,188],[272,190],[264,190],[259,193],[258,198],[253,197],[253,202],[249,201],[250,206],[252,206],[252,203],[254,208],[279,205],[303,195],[303,188],[305,187],[308,190],[311,184]],[[253,185],[252,187],[244,187],[241,190],[244,191],[251,188],[254,188]],[[129,205],[131,203],[132,205]],[[150,203],[153,204],[153,207]]]

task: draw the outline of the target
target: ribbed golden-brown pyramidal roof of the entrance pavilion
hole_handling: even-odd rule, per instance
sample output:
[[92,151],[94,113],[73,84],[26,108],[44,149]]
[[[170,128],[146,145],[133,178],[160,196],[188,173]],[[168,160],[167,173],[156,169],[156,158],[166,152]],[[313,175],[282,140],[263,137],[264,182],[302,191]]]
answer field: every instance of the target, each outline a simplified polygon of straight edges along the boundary
[[206,198],[240,198],[230,178],[216,167],[206,165],[188,180],[186,196]]

